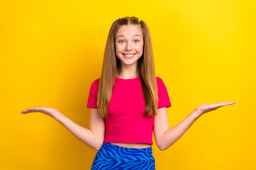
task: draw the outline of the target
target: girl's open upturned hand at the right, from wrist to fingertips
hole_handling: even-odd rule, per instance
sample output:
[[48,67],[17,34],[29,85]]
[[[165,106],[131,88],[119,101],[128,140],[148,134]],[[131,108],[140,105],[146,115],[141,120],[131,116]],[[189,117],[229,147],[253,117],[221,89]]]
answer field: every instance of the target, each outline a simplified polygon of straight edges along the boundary
[[203,115],[204,113],[214,111],[217,108],[220,108],[222,106],[228,106],[228,105],[232,105],[232,104],[235,104],[235,101],[223,101],[223,102],[212,103],[212,104],[201,104],[196,108],[196,112],[199,115]]

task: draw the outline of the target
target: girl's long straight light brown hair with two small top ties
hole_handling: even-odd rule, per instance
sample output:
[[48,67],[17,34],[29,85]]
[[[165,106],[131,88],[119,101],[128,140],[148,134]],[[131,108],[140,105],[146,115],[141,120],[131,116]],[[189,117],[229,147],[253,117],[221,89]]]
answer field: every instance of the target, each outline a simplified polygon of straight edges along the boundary
[[117,30],[121,26],[129,24],[140,25],[144,38],[143,54],[142,57],[139,58],[137,65],[139,75],[142,76],[142,87],[146,105],[144,115],[156,115],[158,91],[151,37],[146,23],[143,20],[140,22],[138,20],[139,18],[135,16],[120,18],[120,21],[114,21],[110,28],[105,47],[102,75],[100,77],[99,89],[97,92],[97,108],[99,108],[103,118],[109,116],[109,113],[107,113],[107,106],[112,98],[112,87],[114,85],[115,77],[117,76],[117,73],[120,72],[120,60],[115,53],[115,36]]

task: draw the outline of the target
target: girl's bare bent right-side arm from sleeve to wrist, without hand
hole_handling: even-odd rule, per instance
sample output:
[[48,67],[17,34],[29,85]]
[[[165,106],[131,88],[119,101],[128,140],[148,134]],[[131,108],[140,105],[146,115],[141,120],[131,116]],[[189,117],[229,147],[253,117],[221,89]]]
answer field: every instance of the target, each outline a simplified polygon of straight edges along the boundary
[[169,128],[169,118],[166,108],[159,108],[154,117],[154,137],[156,145],[164,151],[174,145],[181,136],[191,127],[191,125],[200,117],[194,110],[185,119],[173,128]]

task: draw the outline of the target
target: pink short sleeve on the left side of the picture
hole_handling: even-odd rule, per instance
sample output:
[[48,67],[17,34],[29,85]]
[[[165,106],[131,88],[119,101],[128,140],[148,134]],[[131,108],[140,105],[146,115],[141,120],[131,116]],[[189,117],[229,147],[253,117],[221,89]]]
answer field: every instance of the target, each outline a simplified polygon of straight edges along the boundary
[[90,86],[89,97],[87,101],[87,108],[97,108],[97,90],[99,86],[99,79],[92,82]]

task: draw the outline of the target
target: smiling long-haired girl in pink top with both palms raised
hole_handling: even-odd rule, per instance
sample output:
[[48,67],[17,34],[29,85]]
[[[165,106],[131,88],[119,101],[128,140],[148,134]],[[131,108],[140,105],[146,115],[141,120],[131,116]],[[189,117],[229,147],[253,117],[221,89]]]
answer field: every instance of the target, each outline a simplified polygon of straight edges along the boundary
[[102,75],[90,86],[87,108],[90,129],[77,125],[56,108],[39,106],[75,137],[97,150],[91,169],[155,169],[152,133],[162,151],[171,147],[204,113],[234,101],[201,104],[181,123],[169,128],[171,106],[164,81],[155,76],[149,28],[137,17],[112,23]]

